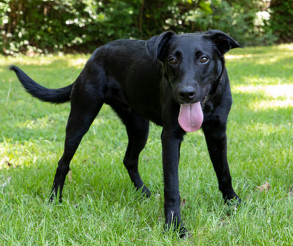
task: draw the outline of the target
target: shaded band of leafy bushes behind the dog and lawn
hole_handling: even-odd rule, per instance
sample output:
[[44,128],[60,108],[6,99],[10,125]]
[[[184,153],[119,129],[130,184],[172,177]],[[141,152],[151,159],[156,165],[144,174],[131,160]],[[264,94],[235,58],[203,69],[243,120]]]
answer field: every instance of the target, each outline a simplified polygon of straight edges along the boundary
[[1,0],[0,53],[92,52],[118,38],[220,29],[242,45],[293,41],[293,0]]

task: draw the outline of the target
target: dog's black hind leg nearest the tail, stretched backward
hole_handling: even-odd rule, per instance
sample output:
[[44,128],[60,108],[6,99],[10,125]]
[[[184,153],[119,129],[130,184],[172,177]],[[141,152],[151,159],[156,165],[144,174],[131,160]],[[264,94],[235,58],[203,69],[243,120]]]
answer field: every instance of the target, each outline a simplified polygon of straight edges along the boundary
[[[91,90],[93,91],[93,88]],[[98,94],[98,92],[87,92],[85,89],[80,88],[75,89],[75,92],[73,92],[70,115],[66,126],[63,156],[58,162],[50,201],[53,201],[55,197],[57,198],[59,194],[59,202],[61,202],[62,189],[69,171],[70,161],[82,137],[87,133],[89,126],[91,126],[103,106],[103,99],[100,99]]]

